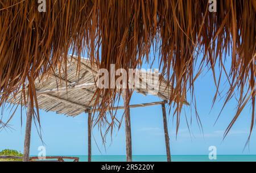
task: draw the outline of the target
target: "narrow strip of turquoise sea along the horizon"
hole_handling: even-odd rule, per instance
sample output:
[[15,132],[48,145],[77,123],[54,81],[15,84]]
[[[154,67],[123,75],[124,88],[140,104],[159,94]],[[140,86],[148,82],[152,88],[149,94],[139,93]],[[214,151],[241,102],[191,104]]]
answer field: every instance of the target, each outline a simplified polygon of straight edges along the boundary
[[[79,157],[80,162],[86,162],[86,155]],[[125,155],[93,155],[93,162],[125,162]],[[134,155],[134,162],[166,162],[165,155]],[[210,161],[208,155],[172,155],[173,162],[256,162],[256,155],[217,155],[217,160]]]

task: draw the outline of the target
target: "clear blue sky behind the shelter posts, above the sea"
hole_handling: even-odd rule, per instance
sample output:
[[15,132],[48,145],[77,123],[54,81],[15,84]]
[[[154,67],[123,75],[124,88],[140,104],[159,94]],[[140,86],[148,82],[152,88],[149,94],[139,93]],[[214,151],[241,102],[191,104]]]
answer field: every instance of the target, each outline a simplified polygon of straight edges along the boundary
[[[225,81],[222,81],[225,82]],[[236,111],[234,99],[226,105],[224,111],[213,125],[221,110],[224,100],[217,99],[212,111],[212,99],[216,88],[212,80],[212,73],[204,73],[195,83],[195,94],[197,100],[197,111],[203,124],[204,135],[196,123],[195,112],[190,113],[190,107],[184,107],[181,114],[181,125],[176,138],[175,120],[172,113],[168,116],[168,130],[170,133],[171,154],[173,155],[208,155],[209,146],[217,147],[217,154],[256,154],[255,132],[250,141],[250,150],[243,147],[249,135],[250,128],[250,105],[245,108],[241,116],[228,136],[223,141],[226,127],[232,120]],[[225,91],[225,90],[224,90]],[[222,93],[222,96],[225,92]],[[143,96],[134,93],[131,104],[158,101],[156,96]],[[122,105],[122,102],[120,103]],[[168,110],[167,110],[168,112]],[[171,110],[172,112],[172,110]],[[189,134],[185,123],[185,113],[188,117],[192,115],[192,125]],[[121,118],[123,111],[118,111]],[[10,110],[5,109],[3,117],[8,117]],[[13,129],[4,129],[0,133],[0,150],[15,149],[23,151],[24,128],[26,119],[23,110],[23,126],[20,126],[20,110],[16,111],[10,125]],[[53,112],[40,111],[43,140],[46,143],[47,155],[87,155],[87,116],[85,113],[77,117],[66,117]],[[161,106],[131,109],[131,133],[133,142],[133,155],[164,155],[166,153],[163,119]],[[97,147],[96,145],[99,147]],[[38,147],[42,142],[36,132],[35,125],[32,126],[31,155],[38,154]],[[101,135],[98,128],[93,129],[92,154],[93,155],[125,155],[125,127],[115,129],[113,136],[108,136],[106,150],[102,145]]]

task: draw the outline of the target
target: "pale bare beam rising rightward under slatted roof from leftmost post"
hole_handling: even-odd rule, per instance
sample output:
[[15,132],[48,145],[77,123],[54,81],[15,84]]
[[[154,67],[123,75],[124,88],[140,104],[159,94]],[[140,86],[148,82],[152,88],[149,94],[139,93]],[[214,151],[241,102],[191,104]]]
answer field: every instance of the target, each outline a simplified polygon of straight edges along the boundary
[[65,92],[65,91],[73,91],[73,90],[79,90],[84,88],[89,88],[95,86],[95,83],[82,83],[80,85],[74,85],[72,87],[61,87],[61,88],[53,88],[51,90],[44,90],[44,91],[36,91],[36,95],[42,95],[42,94],[52,94],[55,92]]

